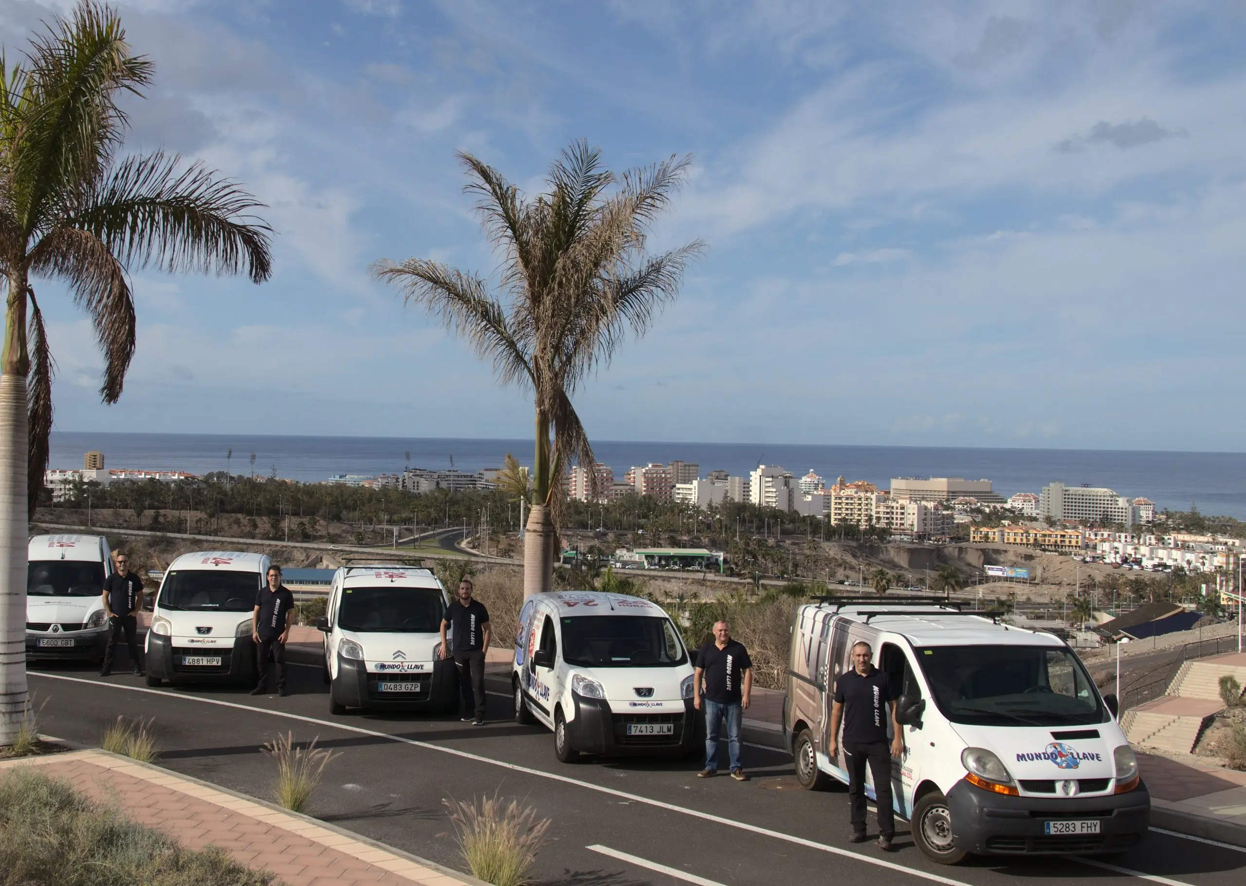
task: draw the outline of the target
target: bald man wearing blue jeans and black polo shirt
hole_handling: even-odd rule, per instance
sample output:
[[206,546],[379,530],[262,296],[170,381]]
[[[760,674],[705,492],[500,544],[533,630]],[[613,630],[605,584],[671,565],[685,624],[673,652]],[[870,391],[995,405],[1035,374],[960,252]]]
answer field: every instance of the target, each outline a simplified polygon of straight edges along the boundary
[[[705,682],[704,690],[701,680]],[[753,662],[744,645],[731,639],[731,626],[715,622],[714,642],[697,650],[697,673],[693,677],[693,707],[705,707],[705,769],[697,774],[708,779],[718,775],[718,733],[726,722],[726,749],[731,778],[748,781],[740,765],[740,720],[749,707],[753,692]]]

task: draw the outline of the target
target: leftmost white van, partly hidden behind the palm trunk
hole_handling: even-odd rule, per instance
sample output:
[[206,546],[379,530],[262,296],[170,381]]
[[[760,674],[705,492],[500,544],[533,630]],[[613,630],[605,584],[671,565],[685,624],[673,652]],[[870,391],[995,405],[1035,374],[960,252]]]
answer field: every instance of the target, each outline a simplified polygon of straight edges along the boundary
[[112,574],[103,536],[34,536],[26,567],[26,658],[103,660],[108,618],[103,579]]

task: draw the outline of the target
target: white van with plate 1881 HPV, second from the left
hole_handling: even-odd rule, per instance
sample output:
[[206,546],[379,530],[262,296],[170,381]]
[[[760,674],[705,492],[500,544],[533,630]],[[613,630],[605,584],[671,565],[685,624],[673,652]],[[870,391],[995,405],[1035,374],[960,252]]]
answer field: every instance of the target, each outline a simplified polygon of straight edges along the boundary
[[147,631],[147,685],[255,682],[250,619],[264,587],[263,553],[197,551],[164,571]]

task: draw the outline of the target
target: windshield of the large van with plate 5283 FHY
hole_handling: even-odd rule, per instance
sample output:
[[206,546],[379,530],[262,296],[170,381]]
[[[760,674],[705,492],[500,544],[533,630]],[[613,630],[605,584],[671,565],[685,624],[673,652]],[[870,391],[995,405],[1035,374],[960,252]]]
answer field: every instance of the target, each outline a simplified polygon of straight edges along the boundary
[[937,645],[916,652],[934,703],[952,723],[1063,726],[1104,722],[1099,693],[1070,649]]

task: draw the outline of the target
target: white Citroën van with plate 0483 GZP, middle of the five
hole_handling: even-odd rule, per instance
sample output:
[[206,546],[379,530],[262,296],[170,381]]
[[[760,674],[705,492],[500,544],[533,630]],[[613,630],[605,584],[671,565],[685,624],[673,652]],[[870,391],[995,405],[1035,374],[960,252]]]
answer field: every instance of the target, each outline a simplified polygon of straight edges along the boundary
[[431,569],[346,566],[333,576],[324,632],[329,713],[348,708],[459,710],[454,659],[441,658],[450,599]]

